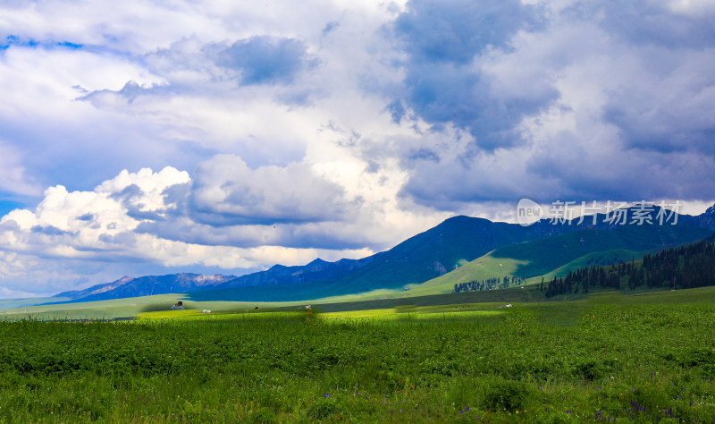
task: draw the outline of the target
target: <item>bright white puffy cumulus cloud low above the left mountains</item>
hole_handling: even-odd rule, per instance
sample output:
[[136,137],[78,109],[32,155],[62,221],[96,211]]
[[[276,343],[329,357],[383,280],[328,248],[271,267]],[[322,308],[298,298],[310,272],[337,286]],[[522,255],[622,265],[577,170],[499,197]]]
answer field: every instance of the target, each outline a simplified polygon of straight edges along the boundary
[[139,173],[122,171],[94,191],[51,187],[35,210],[16,209],[0,220],[0,244],[7,250],[53,258],[135,257],[165,266],[204,264],[228,269],[256,267],[277,259],[295,263],[315,254],[316,250],[300,253],[256,243],[241,249],[198,245],[136,231],[142,223],[175,215],[176,204],[168,202],[164,193],[188,182],[189,174],[166,167],[158,173],[148,168]]

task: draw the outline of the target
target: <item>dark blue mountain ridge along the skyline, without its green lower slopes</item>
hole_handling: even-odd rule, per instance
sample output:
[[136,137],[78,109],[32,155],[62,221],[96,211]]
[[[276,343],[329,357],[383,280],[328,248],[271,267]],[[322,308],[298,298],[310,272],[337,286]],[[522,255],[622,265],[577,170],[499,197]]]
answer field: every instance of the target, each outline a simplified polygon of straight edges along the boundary
[[[656,207],[649,213],[652,220],[657,220],[658,211],[659,208]],[[55,297],[70,298],[71,301],[100,301],[151,294],[215,290],[217,294],[252,293],[250,300],[257,300],[256,297],[260,297],[260,293],[264,291],[248,288],[268,289],[283,285],[285,287],[282,290],[288,293],[282,293],[285,294],[282,298],[290,298],[293,288],[307,287],[306,284],[311,287],[311,293],[332,295],[362,293],[375,289],[400,289],[408,284],[422,284],[442,276],[461,264],[502,246],[584,229],[612,231],[621,226],[629,226],[606,222],[603,217],[598,216],[596,225],[593,225],[592,217],[586,216],[581,224],[577,223],[578,218],[556,224],[543,219],[534,225],[522,226],[495,223],[484,218],[453,216],[424,233],[400,242],[391,250],[363,259],[340,259],[335,262],[315,259],[304,266],[275,265],[265,271],[245,276],[125,276],[112,283],[58,293]],[[681,225],[715,231],[715,206],[708,208],[700,216],[678,215],[677,226]]]

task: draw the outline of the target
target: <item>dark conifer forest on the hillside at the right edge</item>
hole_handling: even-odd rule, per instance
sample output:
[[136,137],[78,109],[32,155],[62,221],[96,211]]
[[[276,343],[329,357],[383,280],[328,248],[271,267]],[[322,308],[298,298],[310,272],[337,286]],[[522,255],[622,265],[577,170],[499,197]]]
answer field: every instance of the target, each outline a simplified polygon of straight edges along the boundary
[[603,287],[628,290],[638,287],[671,287],[690,289],[715,285],[715,242],[711,238],[647,253],[643,260],[631,260],[610,267],[583,267],[569,271],[566,277],[554,277],[539,290],[546,297],[568,293],[588,293],[590,288]]

